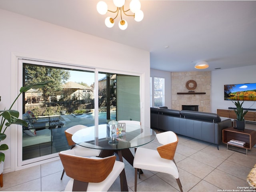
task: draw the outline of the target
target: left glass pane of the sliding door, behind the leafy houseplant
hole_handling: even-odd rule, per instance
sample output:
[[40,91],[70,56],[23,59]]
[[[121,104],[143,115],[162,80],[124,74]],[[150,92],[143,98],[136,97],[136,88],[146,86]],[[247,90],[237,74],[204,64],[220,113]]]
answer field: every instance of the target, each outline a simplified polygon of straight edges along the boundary
[[23,63],[23,86],[52,81],[23,94],[22,160],[70,148],[64,131],[94,125],[94,72]]

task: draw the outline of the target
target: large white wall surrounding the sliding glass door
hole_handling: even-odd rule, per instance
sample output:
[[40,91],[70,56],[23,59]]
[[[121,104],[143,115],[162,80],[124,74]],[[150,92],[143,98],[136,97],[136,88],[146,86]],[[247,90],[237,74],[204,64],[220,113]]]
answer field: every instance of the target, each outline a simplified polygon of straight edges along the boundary
[[[144,118],[150,116],[149,52],[1,9],[0,26],[0,77],[3,80],[0,84],[0,109],[8,108],[18,93],[19,88],[15,82],[17,75],[12,68],[16,62],[12,60],[15,53],[42,60],[101,68],[102,71],[142,74],[142,114]],[[142,121],[150,126],[150,122],[145,119]],[[10,130],[6,134],[4,142],[9,147],[12,144],[12,147],[4,152],[4,168],[5,171],[13,171],[16,167],[14,159],[17,157],[17,127],[12,126],[12,134]]]

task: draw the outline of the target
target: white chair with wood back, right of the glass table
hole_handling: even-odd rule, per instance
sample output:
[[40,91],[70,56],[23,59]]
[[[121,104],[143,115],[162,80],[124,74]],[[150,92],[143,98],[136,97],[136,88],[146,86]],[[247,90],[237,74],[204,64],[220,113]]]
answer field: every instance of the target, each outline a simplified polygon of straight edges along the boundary
[[[135,191],[137,191],[138,169],[163,172],[172,175],[182,192],[179,172],[174,161],[174,155],[178,144],[178,137],[172,131],[156,134],[156,138],[162,146],[157,150],[138,147],[134,156],[133,167],[135,168]],[[140,178],[140,172],[139,172]]]

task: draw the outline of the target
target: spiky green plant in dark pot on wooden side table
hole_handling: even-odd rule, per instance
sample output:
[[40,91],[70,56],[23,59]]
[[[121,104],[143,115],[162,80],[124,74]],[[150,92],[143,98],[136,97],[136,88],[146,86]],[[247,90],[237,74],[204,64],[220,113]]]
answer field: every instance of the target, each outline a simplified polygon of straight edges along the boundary
[[243,131],[245,128],[244,116],[248,112],[248,110],[244,111],[244,109],[242,107],[242,104],[244,103],[244,101],[242,103],[240,103],[239,101],[233,102],[233,103],[236,106],[236,109],[234,109],[234,112],[236,113],[236,128],[238,130]]

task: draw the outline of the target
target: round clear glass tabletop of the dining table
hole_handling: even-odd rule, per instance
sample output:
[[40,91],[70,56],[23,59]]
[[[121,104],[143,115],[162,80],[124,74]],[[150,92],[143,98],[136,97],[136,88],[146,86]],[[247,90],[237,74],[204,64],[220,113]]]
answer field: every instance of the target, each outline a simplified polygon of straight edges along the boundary
[[141,125],[121,124],[118,131],[111,131],[111,128],[109,124],[84,128],[75,132],[72,140],[87,148],[118,150],[142,146],[156,138],[154,130]]

